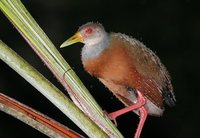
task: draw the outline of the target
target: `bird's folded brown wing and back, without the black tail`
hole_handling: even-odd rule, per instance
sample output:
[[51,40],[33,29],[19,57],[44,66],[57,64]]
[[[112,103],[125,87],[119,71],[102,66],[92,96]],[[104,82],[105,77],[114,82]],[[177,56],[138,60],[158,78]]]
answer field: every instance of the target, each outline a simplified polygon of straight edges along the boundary
[[[127,47],[137,71],[146,78],[155,81],[158,86],[165,86],[166,81],[171,85],[170,76],[160,59],[143,43],[124,34],[113,34],[116,41]],[[172,86],[170,89],[172,89]]]

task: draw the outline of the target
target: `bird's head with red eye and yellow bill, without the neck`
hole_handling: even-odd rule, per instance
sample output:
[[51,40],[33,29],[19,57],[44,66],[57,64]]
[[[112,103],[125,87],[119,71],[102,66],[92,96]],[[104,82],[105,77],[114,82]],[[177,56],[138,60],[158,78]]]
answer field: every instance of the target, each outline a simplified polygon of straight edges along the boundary
[[87,24],[79,27],[78,31],[67,39],[60,48],[72,45],[77,42],[84,43],[85,45],[95,45],[101,42],[107,33],[104,30],[104,27],[99,23],[89,22]]

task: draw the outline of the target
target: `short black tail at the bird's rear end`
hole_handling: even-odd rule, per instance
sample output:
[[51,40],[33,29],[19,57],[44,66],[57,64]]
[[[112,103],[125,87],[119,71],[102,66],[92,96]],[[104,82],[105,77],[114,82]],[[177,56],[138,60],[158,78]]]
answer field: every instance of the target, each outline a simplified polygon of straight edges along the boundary
[[163,98],[164,98],[165,103],[169,107],[173,107],[173,106],[176,105],[175,95],[172,91],[164,91],[163,92]]

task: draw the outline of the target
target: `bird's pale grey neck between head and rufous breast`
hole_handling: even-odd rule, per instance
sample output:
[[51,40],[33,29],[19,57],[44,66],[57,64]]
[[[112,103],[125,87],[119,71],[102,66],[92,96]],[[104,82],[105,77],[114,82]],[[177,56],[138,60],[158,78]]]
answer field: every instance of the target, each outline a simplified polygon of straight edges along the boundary
[[102,38],[102,40],[96,44],[93,45],[85,44],[81,52],[82,61],[99,56],[109,46],[109,42],[110,42],[110,37],[108,35],[105,35],[105,37]]

